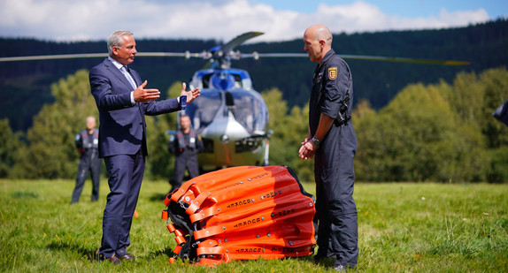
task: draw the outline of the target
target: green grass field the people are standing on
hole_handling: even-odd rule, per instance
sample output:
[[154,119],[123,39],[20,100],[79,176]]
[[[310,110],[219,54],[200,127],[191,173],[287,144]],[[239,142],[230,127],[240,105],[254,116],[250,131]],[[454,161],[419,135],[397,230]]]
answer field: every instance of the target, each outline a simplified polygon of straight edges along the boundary
[[[175,242],[160,219],[168,190],[145,181],[131,231],[137,263],[97,262],[108,193],[91,202],[87,181],[70,205],[73,180],[0,180],[2,272],[325,272],[310,257],[221,264],[170,264]],[[314,193],[312,183],[305,189]],[[508,272],[508,185],[357,183],[356,272]]]

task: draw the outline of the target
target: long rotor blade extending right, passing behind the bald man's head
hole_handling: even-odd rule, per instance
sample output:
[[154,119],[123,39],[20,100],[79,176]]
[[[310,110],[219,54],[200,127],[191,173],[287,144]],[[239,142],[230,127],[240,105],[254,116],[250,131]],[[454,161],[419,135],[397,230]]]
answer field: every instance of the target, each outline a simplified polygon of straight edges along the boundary
[[[442,64],[442,65],[469,65],[470,62],[455,61],[455,60],[432,60],[432,59],[417,59],[409,57],[383,57],[383,56],[366,56],[366,55],[339,55],[343,59],[350,60],[368,60],[368,61],[383,61],[383,62],[396,62],[396,63],[410,63],[410,64]],[[250,54],[242,54],[242,57],[309,57],[307,53],[258,53],[253,52]]]

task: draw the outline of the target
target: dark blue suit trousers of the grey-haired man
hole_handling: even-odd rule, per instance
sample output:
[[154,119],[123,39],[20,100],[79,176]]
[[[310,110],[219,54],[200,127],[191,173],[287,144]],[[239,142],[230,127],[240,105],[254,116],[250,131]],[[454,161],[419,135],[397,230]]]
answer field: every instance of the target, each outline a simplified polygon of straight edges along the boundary
[[111,257],[127,254],[132,217],[139,197],[145,157],[142,151],[135,155],[113,155],[104,158],[110,173],[108,194],[103,217],[103,239],[99,254]]

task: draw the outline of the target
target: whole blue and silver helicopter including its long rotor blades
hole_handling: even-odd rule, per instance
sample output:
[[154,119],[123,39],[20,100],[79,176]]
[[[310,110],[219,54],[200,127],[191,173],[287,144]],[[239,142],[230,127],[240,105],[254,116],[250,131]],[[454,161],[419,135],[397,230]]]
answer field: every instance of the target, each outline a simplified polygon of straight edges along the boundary
[[[225,167],[269,164],[269,139],[273,130],[267,129],[269,113],[263,97],[254,90],[249,72],[231,68],[231,62],[242,58],[260,57],[308,57],[307,53],[241,53],[234,49],[262,32],[247,32],[224,45],[199,53],[140,52],[136,57],[191,57],[209,60],[208,69],[198,70],[189,86],[199,87],[201,96],[189,103],[186,110],[178,113],[188,115],[191,126],[204,142],[204,151],[198,154],[201,171],[213,171]],[[70,59],[107,57],[107,54],[66,54],[27,57],[0,57],[0,62],[34,61],[47,59]],[[388,61],[416,64],[466,65],[468,62],[453,60],[429,60],[407,57],[379,57],[340,55],[344,59]],[[180,118],[177,118],[177,125]],[[166,132],[170,139],[174,131]]]

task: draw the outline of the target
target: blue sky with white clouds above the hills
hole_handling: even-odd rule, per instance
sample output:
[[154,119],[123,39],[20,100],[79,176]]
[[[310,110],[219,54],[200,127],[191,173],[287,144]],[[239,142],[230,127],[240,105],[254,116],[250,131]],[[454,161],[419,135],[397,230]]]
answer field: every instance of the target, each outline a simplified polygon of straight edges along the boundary
[[508,19],[506,0],[0,0],[0,37],[105,41],[117,29],[140,38],[214,39],[260,31],[251,42],[332,33],[466,27]]

